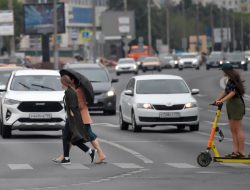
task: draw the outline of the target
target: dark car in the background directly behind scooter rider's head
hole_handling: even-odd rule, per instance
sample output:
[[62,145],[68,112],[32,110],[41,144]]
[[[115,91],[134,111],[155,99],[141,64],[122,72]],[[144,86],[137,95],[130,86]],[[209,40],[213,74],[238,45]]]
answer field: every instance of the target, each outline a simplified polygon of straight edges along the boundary
[[244,53],[240,51],[227,53],[226,61],[231,63],[234,68],[243,69],[244,71],[248,70],[248,60],[245,58]]

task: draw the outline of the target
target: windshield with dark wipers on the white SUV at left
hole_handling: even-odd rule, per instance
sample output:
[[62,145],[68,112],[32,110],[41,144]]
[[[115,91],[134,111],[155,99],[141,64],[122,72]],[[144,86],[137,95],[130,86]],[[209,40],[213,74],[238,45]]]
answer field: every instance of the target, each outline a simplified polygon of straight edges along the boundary
[[60,76],[22,75],[15,76],[10,86],[14,91],[62,91]]

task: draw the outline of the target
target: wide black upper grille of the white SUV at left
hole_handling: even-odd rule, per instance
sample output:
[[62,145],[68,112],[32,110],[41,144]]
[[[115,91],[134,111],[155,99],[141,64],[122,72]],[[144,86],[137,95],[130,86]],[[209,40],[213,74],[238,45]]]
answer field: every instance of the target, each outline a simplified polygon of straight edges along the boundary
[[63,109],[59,102],[22,102],[17,108],[22,112],[59,112]]

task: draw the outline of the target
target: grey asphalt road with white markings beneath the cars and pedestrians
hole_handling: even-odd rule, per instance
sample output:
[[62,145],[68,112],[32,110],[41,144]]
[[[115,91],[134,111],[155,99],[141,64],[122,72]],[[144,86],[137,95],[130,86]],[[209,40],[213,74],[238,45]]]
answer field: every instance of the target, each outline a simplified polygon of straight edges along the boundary
[[[152,72],[147,72],[149,74]],[[153,72],[157,74],[158,72]],[[177,131],[173,126],[144,128],[141,133],[121,131],[116,116],[93,114],[93,130],[99,136],[107,163],[90,163],[88,155],[73,147],[69,166],[55,165],[51,159],[62,152],[61,132],[13,132],[13,138],[0,138],[0,190],[210,190],[248,189],[249,164],[211,163],[202,168],[197,155],[206,149],[215,108],[209,106],[223,88],[220,70],[166,69],[162,73],[182,76],[190,88],[200,89],[195,96],[200,107],[200,130]],[[246,150],[250,152],[250,75],[246,80],[246,116],[243,126]],[[140,73],[141,74],[141,73]],[[144,73],[143,73],[144,74]],[[119,94],[132,74],[119,78]],[[118,106],[118,103],[117,103]],[[219,126],[225,140],[217,143],[220,153],[232,151],[225,108]]]

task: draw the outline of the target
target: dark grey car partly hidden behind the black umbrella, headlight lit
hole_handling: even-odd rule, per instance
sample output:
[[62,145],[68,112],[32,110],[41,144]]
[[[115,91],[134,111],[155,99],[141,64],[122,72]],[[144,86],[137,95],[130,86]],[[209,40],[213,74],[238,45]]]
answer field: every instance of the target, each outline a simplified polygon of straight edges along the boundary
[[64,69],[73,69],[87,77],[94,89],[94,102],[89,104],[89,111],[103,111],[104,114],[116,114],[116,94],[112,86],[118,79],[112,79],[109,71],[102,64],[80,63],[67,64]]

